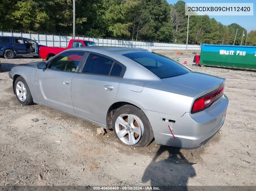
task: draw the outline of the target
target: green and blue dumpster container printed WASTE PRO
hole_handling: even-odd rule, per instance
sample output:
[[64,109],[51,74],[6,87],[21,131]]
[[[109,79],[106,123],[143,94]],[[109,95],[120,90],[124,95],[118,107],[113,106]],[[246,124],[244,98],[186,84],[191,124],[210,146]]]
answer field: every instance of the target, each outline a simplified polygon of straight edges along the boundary
[[201,65],[256,70],[256,46],[201,45]]

